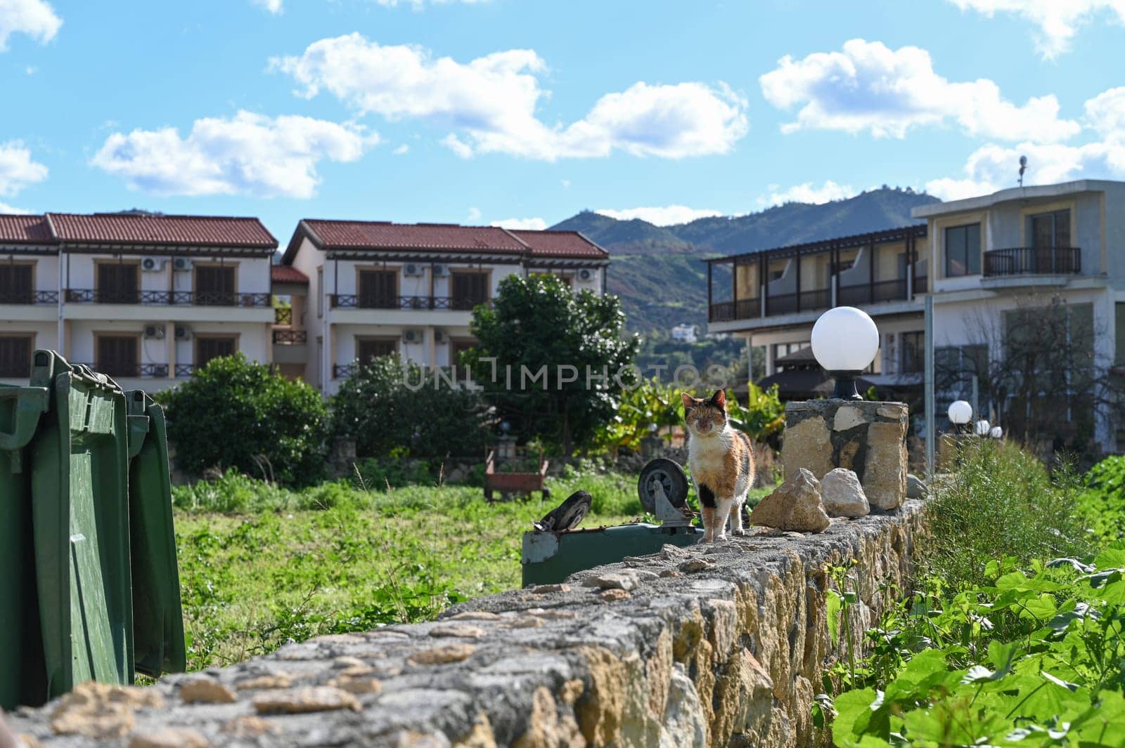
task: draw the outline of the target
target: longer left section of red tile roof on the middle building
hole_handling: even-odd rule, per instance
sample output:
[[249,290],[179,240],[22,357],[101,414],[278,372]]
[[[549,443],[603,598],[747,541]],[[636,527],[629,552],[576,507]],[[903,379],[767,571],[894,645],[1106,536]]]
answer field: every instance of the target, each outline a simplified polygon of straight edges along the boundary
[[502,228],[457,224],[303,221],[322,249],[430,249],[523,254],[528,247]]

